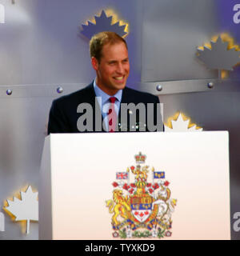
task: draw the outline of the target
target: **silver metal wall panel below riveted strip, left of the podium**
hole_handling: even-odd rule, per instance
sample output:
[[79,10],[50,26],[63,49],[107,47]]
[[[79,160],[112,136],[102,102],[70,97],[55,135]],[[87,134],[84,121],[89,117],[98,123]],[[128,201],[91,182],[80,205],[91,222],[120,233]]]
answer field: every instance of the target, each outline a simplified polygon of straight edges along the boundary
[[[12,98],[0,100],[0,194],[1,202],[12,198],[26,185],[38,190],[38,173],[52,98]],[[2,203],[1,203],[2,204]],[[3,210],[1,210],[3,211]],[[38,223],[30,223],[30,234],[6,216],[6,231],[0,239],[38,239]]]

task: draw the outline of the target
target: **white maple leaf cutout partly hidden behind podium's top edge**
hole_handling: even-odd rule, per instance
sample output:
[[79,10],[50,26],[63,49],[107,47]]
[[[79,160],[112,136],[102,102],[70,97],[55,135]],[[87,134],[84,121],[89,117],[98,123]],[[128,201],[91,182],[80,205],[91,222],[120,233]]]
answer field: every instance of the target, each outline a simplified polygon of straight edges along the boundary
[[173,128],[170,128],[170,127],[164,125],[166,132],[202,131],[202,128],[197,129],[196,125],[189,128],[190,119],[187,119],[186,121],[184,121],[181,113],[178,115],[178,119],[176,121],[172,120],[171,123],[172,123]]

